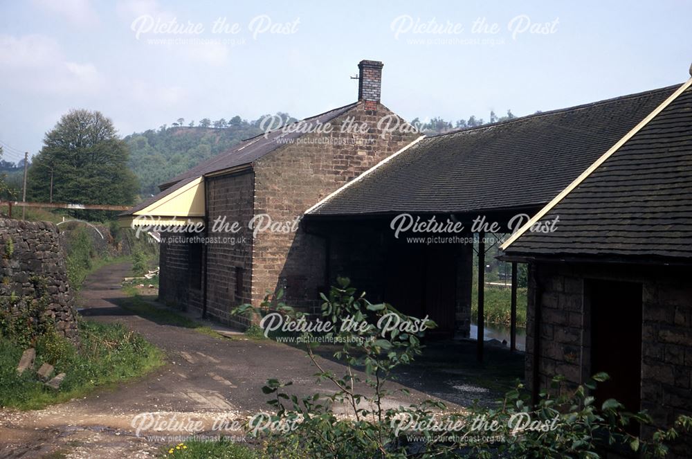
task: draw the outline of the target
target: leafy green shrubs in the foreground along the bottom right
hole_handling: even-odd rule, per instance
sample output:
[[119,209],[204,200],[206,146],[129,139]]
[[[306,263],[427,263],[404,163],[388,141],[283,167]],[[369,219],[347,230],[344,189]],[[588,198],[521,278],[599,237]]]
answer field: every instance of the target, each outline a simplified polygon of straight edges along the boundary
[[[296,321],[305,319],[304,314],[284,304],[281,298],[279,292],[274,298],[266,298],[259,309],[243,305],[233,314],[278,312]],[[682,416],[671,429],[657,431],[652,440],[632,436],[626,426],[650,425],[651,419],[643,412],[623,411],[614,399],[595,406],[590,393],[599,381],[607,379],[608,375],[603,373],[572,390],[556,377],[535,405],[518,384],[493,408],[472,406],[455,412],[435,400],[392,407],[383,403],[384,397],[396,392],[385,388],[391,379],[390,372],[421,354],[423,332],[384,332],[375,324],[390,313],[402,320],[414,318],[386,303],[369,303],[363,294],[349,287],[347,279],[340,279],[338,287],[333,287],[328,297],[322,295],[322,300],[321,318],[331,321],[334,331],[320,335],[303,332],[300,337],[308,343],[307,356],[318,370],[316,376],[334,390],[299,399],[291,394],[291,381],[268,379],[262,392],[271,395],[267,403],[273,413],[260,420],[255,417],[246,426],[251,435],[268,442],[262,457],[598,458],[606,448],[626,448],[644,457],[664,457],[668,451],[665,443],[675,440],[678,430],[692,427],[692,418]],[[358,328],[357,336],[361,339],[354,339],[355,332],[341,331],[340,325],[348,318],[367,323],[364,329]],[[318,336],[321,341],[315,339]],[[344,343],[333,354],[345,367],[344,375],[322,368],[315,357],[316,343],[329,339]],[[365,377],[361,378],[357,370],[363,370]],[[410,440],[409,435],[416,435],[419,440]],[[469,435],[490,440],[473,441]]]

